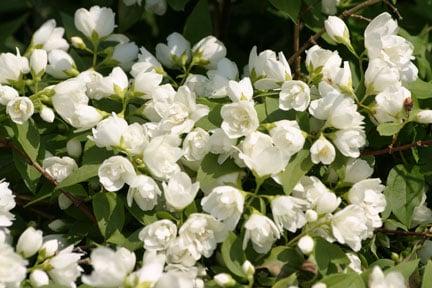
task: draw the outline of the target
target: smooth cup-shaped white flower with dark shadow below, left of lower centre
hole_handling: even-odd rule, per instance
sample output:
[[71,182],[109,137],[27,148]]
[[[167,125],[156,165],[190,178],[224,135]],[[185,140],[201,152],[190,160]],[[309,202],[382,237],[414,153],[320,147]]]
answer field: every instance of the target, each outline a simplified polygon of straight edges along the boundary
[[184,172],[178,172],[162,183],[164,196],[170,208],[183,210],[192,203],[199,190],[199,183],[192,183],[191,178]]

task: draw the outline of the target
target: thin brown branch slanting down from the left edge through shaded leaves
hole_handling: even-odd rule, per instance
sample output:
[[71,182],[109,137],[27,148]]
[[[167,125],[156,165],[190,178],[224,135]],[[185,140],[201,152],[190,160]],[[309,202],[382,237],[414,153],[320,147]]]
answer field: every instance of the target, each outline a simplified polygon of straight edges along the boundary
[[[33,166],[42,176],[45,177],[54,187],[58,186],[57,180],[55,180],[50,174],[48,174],[45,169],[35,160],[31,159],[24,151],[19,149],[14,143],[6,140],[6,139],[0,139],[0,147],[3,148],[9,148],[17,152],[25,161],[27,161],[28,164]],[[61,193],[63,193],[71,202],[72,204],[81,210],[81,212],[84,213],[84,215],[87,216],[87,218],[90,219],[93,223],[97,223],[96,218],[94,217],[91,210],[85,205],[85,203],[75,198],[70,192],[64,190],[63,188],[58,189]]]

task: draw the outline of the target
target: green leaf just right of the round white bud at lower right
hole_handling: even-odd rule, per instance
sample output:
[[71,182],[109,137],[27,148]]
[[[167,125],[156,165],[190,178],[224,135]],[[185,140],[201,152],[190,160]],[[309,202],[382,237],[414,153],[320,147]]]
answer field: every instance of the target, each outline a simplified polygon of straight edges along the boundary
[[332,264],[350,263],[348,257],[338,245],[327,242],[323,238],[315,239],[314,256],[319,271],[324,275],[332,266],[334,268]]

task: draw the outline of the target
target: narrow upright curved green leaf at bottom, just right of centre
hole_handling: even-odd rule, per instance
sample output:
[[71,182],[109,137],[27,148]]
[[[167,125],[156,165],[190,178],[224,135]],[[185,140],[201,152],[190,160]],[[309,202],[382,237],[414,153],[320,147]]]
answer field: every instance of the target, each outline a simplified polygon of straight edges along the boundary
[[233,274],[246,278],[242,269],[246,256],[244,255],[241,238],[237,237],[233,232],[230,232],[228,237],[222,243],[221,252],[225,266]]

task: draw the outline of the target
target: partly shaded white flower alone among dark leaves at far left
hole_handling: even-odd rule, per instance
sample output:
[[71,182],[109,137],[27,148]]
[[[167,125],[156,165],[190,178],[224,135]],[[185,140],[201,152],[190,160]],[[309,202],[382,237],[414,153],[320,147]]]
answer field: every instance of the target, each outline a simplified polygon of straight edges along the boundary
[[68,157],[47,157],[43,160],[42,166],[45,171],[51,175],[57,182],[61,182],[78,170],[78,165],[75,160]]

